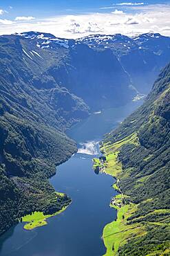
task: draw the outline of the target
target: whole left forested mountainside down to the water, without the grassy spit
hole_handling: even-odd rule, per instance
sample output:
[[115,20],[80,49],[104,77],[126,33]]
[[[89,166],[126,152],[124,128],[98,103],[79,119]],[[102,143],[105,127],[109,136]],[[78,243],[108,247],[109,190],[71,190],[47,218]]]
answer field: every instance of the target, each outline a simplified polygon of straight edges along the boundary
[[47,178],[76,152],[63,131],[88,116],[88,107],[44,74],[39,55],[23,60],[17,37],[0,38],[0,55],[1,234],[24,214],[70,203],[56,196]]

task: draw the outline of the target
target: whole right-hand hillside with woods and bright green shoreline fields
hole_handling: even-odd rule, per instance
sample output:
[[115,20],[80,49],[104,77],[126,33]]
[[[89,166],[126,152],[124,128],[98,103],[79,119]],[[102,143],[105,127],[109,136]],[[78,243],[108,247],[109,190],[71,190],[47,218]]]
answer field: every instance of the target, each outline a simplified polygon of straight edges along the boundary
[[103,170],[117,178],[118,210],[103,239],[106,255],[170,254],[170,64],[145,103],[107,134]]

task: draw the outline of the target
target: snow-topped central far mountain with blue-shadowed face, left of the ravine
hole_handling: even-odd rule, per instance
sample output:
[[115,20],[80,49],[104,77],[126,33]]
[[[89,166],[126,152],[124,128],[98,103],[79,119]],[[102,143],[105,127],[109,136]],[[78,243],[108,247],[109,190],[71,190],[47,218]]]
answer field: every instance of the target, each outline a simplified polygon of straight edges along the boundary
[[[13,37],[21,44],[22,57],[32,68],[37,69],[35,64],[39,60],[41,71],[43,68],[40,77],[49,75],[53,82],[82,98],[93,110],[126,104],[136,95],[129,88],[129,76],[109,49],[94,51],[76,40],[43,33]],[[46,85],[37,82],[39,76],[33,77],[36,88],[53,87],[50,80]]]

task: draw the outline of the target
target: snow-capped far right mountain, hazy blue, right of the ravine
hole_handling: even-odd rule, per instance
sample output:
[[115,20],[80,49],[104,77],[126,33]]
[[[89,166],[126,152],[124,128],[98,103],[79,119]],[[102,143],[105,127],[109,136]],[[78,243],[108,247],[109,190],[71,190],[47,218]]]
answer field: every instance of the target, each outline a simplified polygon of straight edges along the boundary
[[125,35],[89,35],[79,39],[96,51],[111,50],[129,75],[131,84],[147,94],[160,70],[169,62],[170,38],[147,33]]

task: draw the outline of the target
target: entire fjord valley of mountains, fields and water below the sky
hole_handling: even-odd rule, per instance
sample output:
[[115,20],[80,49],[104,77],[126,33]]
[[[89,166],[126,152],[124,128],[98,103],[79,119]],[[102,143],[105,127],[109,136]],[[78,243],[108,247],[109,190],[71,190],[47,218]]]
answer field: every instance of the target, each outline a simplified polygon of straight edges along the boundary
[[0,36],[0,255],[169,253],[169,46]]

